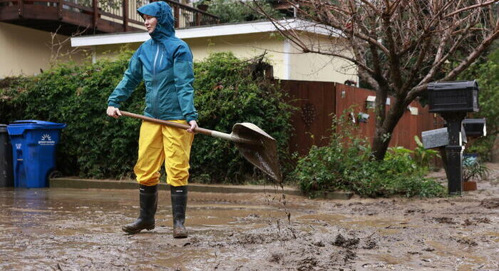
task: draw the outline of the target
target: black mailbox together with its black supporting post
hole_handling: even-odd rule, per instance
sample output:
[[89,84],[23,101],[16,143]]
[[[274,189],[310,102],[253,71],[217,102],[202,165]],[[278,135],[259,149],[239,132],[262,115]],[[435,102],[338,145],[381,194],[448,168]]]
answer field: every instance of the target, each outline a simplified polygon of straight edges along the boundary
[[462,121],[468,112],[478,112],[477,81],[454,81],[428,84],[430,112],[440,113],[447,122],[446,146],[448,193],[463,192]]

